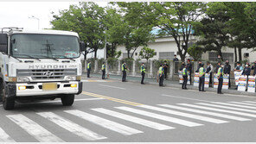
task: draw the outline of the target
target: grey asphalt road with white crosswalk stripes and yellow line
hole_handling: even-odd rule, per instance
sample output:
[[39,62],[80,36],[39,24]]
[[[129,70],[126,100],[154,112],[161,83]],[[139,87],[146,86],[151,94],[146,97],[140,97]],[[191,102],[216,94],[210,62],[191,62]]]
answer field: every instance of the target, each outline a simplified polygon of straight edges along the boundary
[[96,78],[83,91],[71,107],[56,99],[0,109],[0,141],[256,141],[256,97]]

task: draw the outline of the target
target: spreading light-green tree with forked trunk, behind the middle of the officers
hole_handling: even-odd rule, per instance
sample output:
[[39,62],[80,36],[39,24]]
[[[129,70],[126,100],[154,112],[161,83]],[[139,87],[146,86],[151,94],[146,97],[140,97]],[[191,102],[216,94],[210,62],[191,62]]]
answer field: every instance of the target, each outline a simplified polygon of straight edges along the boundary
[[[205,3],[195,2],[160,2],[160,3],[124,3],[127,17],[139,25],[160,28],[163,33],[171,35],[184,60],[189,47],[192,27],[205,11]],[[137,22],[140,20],[143,22]]]

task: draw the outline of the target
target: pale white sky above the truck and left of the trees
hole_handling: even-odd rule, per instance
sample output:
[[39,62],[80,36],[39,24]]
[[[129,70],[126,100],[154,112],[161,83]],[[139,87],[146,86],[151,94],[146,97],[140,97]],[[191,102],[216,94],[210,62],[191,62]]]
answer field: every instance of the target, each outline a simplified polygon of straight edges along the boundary
[[[28,30],[51,28],[50,21],[59,10],[68,9],[71,4],[79,2],[0,2],[0,28],[19,27]],[[97,2],[99,6],[106,6],[107,2]],[[35,18],[29,18],[35,16]],[[101,58],[103,52],[99,52]],[[89,55],[90,57],[90,55]]]

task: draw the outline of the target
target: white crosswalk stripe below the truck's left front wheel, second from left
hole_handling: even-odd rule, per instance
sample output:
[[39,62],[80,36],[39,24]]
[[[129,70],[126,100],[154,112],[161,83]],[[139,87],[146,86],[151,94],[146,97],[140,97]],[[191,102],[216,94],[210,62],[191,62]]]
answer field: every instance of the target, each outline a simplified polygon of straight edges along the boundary
[[36,122],[30,120],[28,117],[22,114],[7,116],[12,122],[15,122],[18,126],[23,128],[29,135],[35,137],[37,141],[41,142],[64,142],[61,138],[53,135],[47,129],[42,128]]

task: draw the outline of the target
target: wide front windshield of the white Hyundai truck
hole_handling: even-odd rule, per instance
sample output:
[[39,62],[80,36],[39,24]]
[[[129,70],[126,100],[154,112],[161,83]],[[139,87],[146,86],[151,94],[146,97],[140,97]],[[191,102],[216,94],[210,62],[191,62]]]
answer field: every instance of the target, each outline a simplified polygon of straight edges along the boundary
[[11,54],[16,58],[78,58],[78,38],[71,35],[13,34]]

